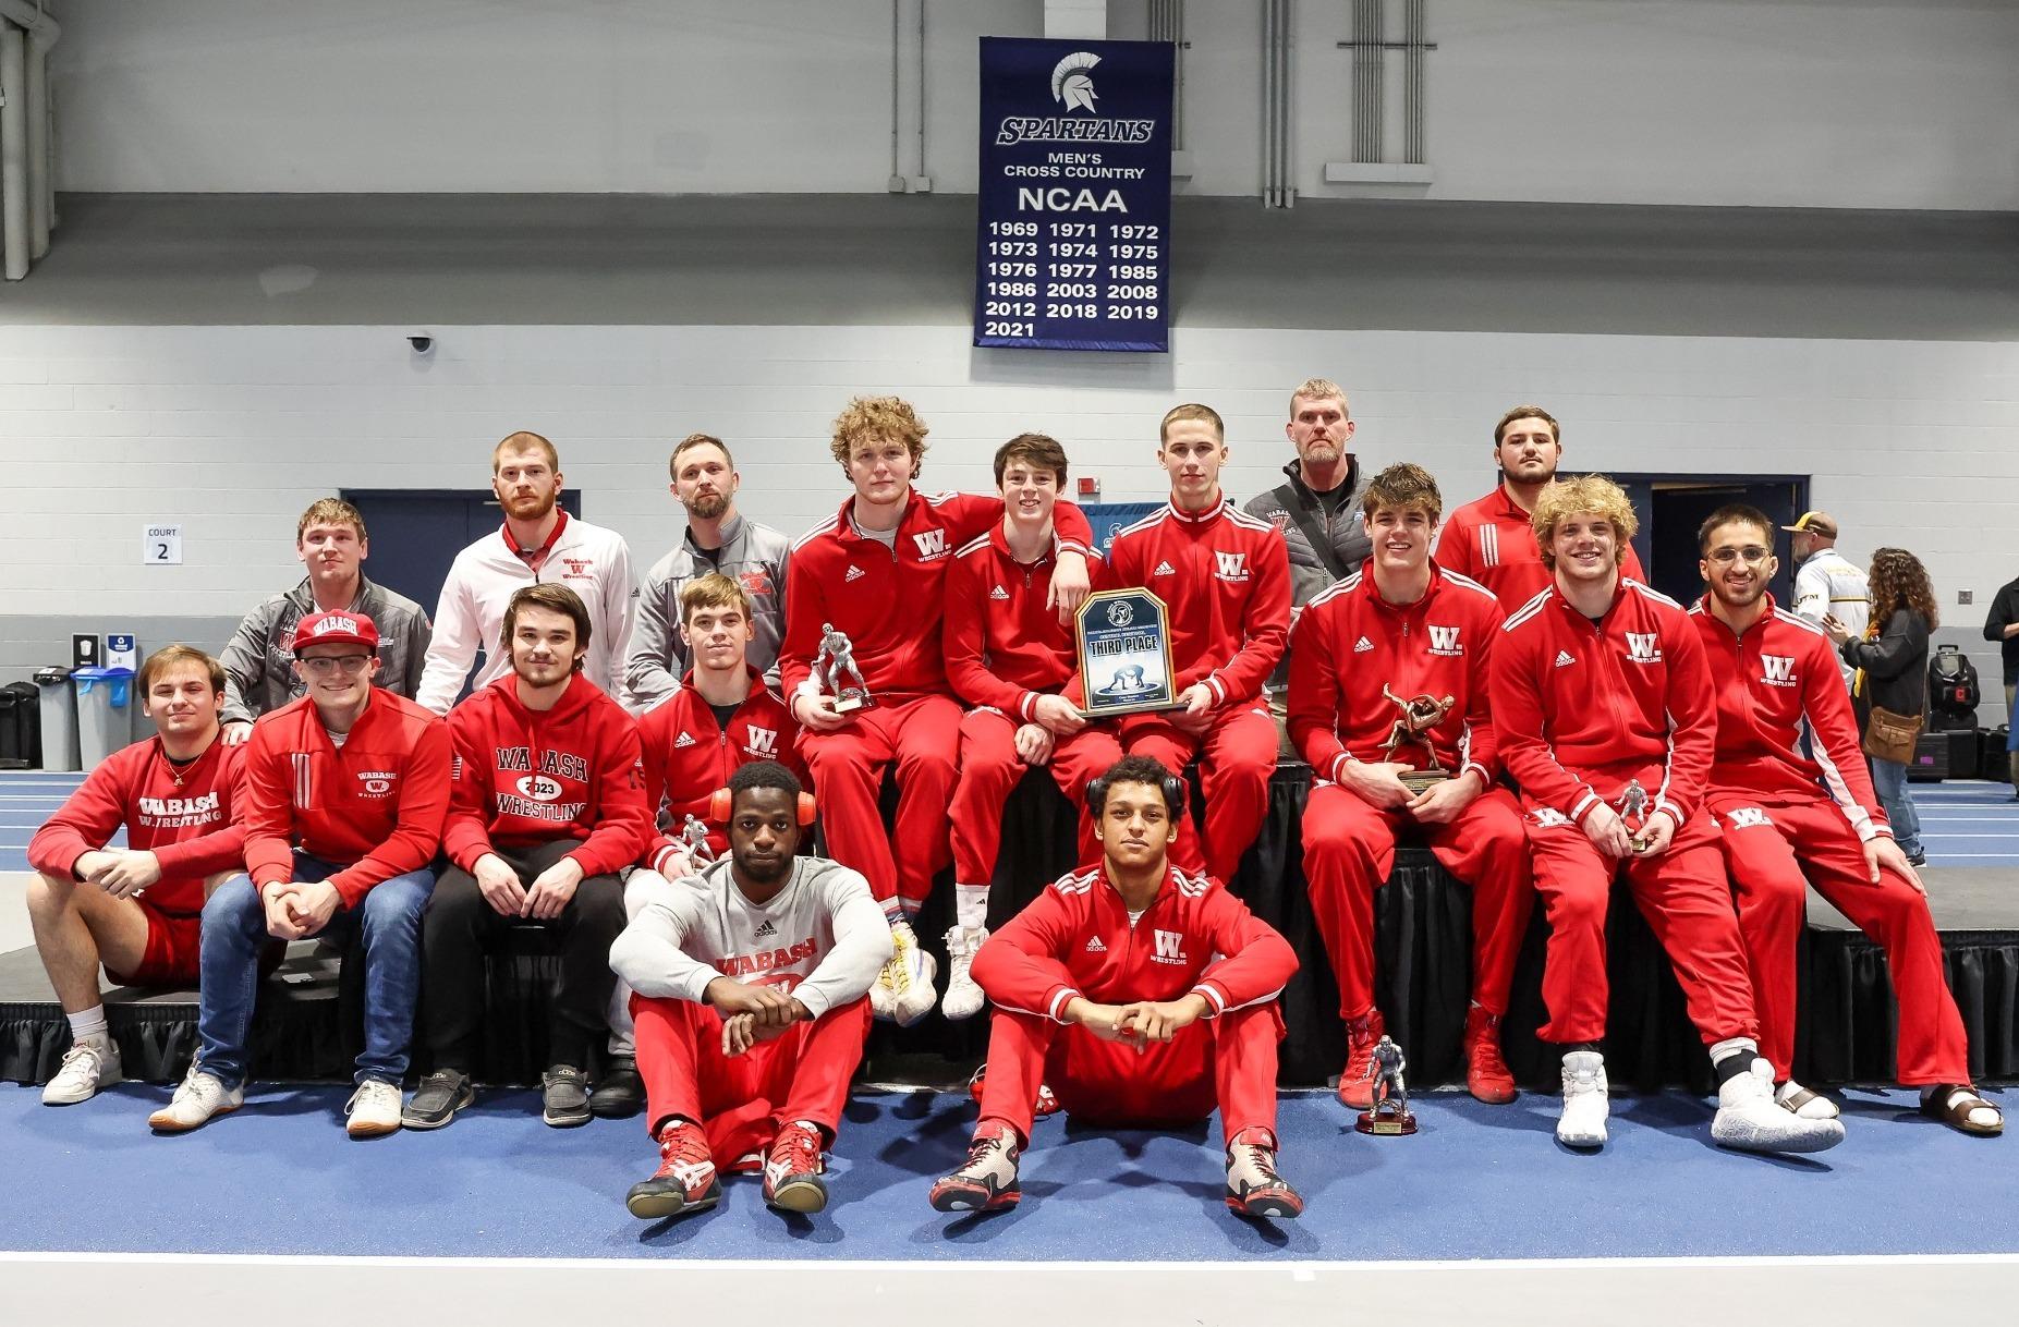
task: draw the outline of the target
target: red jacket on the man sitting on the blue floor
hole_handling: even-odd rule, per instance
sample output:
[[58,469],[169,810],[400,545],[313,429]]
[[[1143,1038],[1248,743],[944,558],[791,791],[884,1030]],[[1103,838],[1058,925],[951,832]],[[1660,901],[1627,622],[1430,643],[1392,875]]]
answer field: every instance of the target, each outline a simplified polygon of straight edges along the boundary
[[989,1000],[1052,1020],[1074,996],[1129,1004],[1191,992],[1215,1018],[1274,1000],[1294,972],[1290,941],[1211,877],[1177,866],[1133,927],[1102,866],[1062,875],[981,943],[973,967]]

